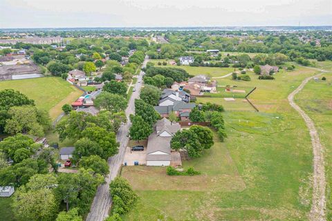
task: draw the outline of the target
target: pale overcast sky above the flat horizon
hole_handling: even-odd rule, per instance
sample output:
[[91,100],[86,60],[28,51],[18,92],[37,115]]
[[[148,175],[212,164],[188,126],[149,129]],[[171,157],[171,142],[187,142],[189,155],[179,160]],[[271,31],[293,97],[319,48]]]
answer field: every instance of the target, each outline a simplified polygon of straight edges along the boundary
[[331,26],[332,0],[0,0],[0,28]]

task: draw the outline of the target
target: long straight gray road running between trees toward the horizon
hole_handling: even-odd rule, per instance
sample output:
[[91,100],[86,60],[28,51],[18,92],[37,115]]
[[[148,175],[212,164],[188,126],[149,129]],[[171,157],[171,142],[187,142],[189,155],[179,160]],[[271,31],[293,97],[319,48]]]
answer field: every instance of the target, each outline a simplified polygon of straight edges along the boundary
[[[145,61],[143,62],[142,67],[146,66],[147,61],[147,57],[145,57]],[[140,88],[142,87],[142,77],[144,74],[144,72],[140,71],[140,75],[138,75],[138,81],[135,85],[136,91],[133,92],[131,98],[129,99],[128,107],[126,109],[126,115],[128,119],[127,124],[123,124],[120,127],[118,134],[116,135],[116,140],[120,143],[119,153],[113,157],[109,157],[109,175],[105,178],[106,184],[102,184],[98,187],[86,221],[103,221],[109,215],[109,209],[111,208],[112,204],[112,200],[109,195],[109,183],[118,175],[118,171],[121,168],[121,164],[123,162],[124,153],[126,152],[126,147],[129,142],[129,138],[127,137],[129,128],[131,126],[129,115],[135,112],[134,102],[135,99],[140,96]]]

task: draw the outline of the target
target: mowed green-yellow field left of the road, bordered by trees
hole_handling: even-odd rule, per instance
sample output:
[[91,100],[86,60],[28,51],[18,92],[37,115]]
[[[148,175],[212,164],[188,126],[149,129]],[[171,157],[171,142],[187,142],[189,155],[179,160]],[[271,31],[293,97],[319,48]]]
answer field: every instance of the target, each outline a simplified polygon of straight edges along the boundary
[[48,111],[52,119],[62,113],[61,108],[64,104],[70,104],[82,95],[81,90],[60,77],[0,81],[0,90],[9,88],[19,90],[30,99],[34,99],[36,106]]

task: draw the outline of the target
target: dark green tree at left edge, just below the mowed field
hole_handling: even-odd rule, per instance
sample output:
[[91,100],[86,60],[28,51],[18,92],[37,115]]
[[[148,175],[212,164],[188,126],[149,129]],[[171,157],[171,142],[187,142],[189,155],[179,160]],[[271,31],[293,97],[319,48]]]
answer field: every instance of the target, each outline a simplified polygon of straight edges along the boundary
[[26,95],[18,90],[5,89],[0,90],[0,110],[8,111],[12,106],[35,106],[33,99],[29,99]]

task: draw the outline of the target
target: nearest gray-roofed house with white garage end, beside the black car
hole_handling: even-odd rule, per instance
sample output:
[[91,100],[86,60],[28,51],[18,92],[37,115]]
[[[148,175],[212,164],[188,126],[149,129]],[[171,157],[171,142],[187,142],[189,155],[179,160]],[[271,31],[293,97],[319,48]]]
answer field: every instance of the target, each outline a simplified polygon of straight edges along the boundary
[[171,140],[181,130],[178,123],[172,123],[165,117],[158,120],[155,131],[147,142],[147,166],[169,166],[171,164]]

